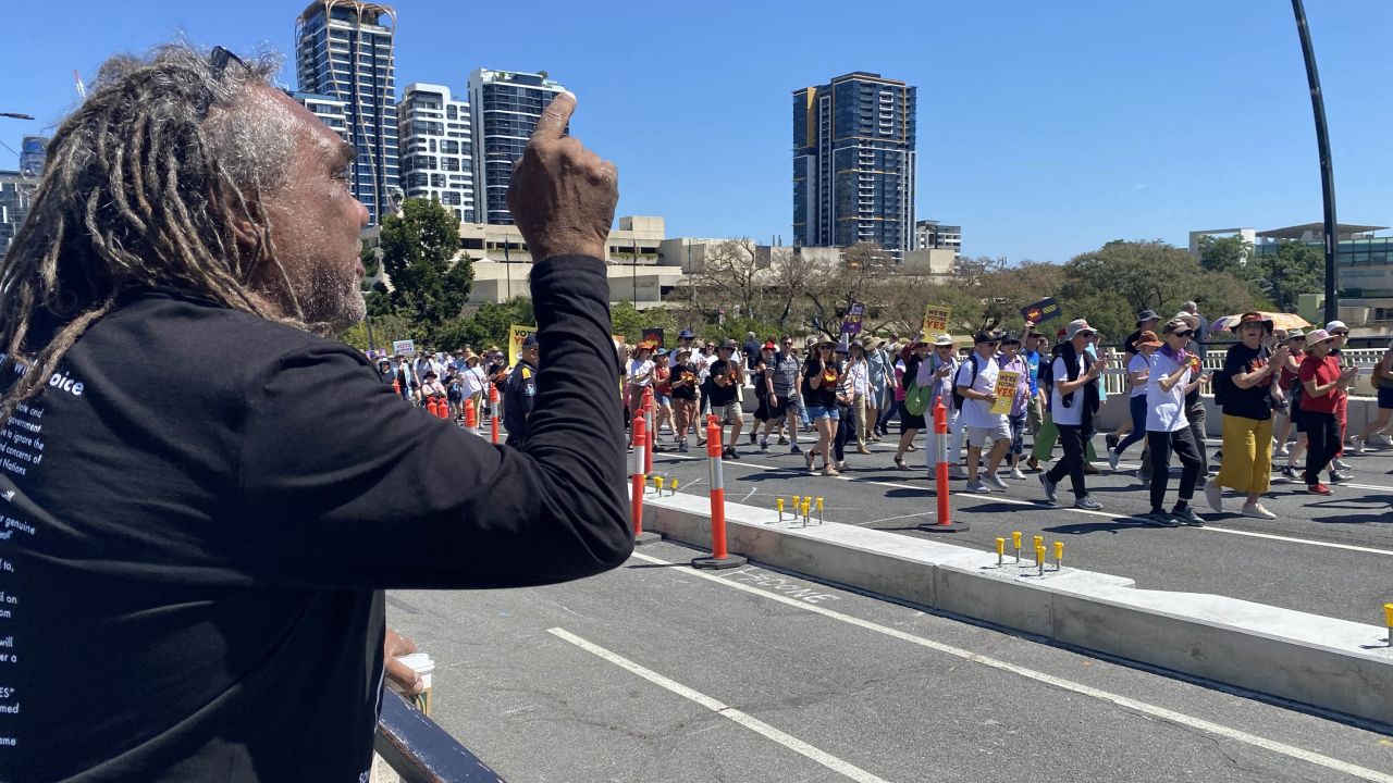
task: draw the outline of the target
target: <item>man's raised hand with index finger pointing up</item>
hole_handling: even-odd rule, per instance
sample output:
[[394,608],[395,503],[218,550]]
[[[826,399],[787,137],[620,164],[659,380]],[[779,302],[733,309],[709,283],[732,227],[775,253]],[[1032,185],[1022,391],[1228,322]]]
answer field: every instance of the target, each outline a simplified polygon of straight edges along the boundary
[[534,261],[557,255],[605,259],[614,224],[618,173],[609,160],[561,135],[575,111],[575,96],[557,93],[513,166],[508,210]]

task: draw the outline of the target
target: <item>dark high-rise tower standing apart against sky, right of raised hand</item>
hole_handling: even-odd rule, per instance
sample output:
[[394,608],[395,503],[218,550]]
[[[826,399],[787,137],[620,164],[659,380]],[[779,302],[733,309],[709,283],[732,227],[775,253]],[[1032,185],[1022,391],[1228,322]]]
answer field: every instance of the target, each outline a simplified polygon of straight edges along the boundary
[[793,234],[914,249],[915,88],[857,71],[793,93]]

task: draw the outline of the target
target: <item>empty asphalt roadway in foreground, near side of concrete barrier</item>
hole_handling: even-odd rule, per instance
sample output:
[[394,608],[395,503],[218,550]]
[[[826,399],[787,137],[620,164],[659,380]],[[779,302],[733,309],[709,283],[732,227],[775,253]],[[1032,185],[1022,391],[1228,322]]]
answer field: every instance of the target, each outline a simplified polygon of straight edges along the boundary
[[393,591],[389,623],[436,660],[436,720],[513,783],[1393,782],[1387,734],[694,555]]

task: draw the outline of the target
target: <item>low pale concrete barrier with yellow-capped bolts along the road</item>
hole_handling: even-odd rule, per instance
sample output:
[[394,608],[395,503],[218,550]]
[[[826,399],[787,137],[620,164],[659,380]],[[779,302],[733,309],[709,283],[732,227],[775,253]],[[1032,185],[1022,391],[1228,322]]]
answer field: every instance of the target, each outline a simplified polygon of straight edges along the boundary
[[[710,546],[708,499],[648,500],[649,527]],[[1219,595],[1137,589],[1128,578],[853,525],[795,527],[726,504],[730,552],[777,568],[1057,642],[1393,724],[1387,630]],[[1022,564],[1027,560],[1022,557]],[[1372,612],[1372,607],[1371,607]]]

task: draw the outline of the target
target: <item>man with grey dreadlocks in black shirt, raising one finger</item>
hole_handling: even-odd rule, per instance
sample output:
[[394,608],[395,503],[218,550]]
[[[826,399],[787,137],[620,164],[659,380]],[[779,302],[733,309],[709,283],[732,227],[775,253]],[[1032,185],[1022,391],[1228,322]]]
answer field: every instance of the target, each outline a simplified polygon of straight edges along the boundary
[[631,552],[599,261],[617,173],[563,135],[575,98],[508,191],[542,361],[501,449],[316,336],[364,316],[368,213],[352,146],[273,72],[182,45],[107,63],[0,265],[6,780],[365,780],[410,649],[384,588]]

